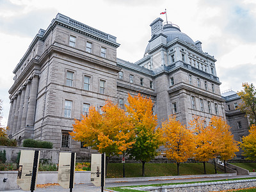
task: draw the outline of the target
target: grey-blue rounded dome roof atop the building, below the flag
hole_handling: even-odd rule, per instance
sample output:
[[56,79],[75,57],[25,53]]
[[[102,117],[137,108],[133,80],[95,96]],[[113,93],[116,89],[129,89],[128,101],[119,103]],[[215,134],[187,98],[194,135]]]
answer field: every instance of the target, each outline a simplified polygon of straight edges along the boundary
[[[193,42],[193,40],[188,35],[186,35],[185,33],[182,33],[180,31],[179,26],[168,22],[168,24],[165,24],[163,26],[163,29],[164,29],[163,34],[167,36],[167,39],[166,39],[167,44],[168,44],[168,42],[172,42],[172,40],[174,40],[175,38],[178,38],[179,40],[182,40],[183,42],[186,42],[187,44],[195,46],[195,42]],[[147,53],[148,51],[150,51],[149,44],[146,47],[145,53]]]

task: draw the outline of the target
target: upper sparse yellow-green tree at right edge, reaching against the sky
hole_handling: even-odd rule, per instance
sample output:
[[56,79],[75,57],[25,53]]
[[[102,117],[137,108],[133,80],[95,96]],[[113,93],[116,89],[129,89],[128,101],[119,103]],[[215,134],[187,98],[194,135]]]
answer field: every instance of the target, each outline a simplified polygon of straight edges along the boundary
[[246,113],[250,120],[250,124],[256,125],[256,89],[253,84],[243,83],[243,90],[237,94],[243,99],[243,103],[239,104],[239,109]]

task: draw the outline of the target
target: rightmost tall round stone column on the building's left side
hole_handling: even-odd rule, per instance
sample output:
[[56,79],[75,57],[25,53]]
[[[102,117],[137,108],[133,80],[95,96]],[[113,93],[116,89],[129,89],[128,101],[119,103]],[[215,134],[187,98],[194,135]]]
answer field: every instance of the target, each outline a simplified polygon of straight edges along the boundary
[[28,115],[26,119],[26,125],[28,125],[28,127],[34,126],[37,88],[38,88],[38,75],[34,75],[31,82],[31,90],[29,93]]

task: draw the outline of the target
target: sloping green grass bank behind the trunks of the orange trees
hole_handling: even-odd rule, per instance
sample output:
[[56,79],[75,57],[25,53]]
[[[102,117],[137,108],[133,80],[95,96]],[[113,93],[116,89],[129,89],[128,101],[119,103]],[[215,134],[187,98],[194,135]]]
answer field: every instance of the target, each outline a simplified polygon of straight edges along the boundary
[[[214,165],[205,163],[207,174],[214,174]],[[218,170],[218,173],[223,173]],[[180,163],[180,175],[202,175],[204,174],[203,163]],[[125,163],[125,177],[141,177],[142,164],[141,163]],[[174,176],[177,175],[177,164],[175,163],[146,163],[145,176],[159,177],[159,176]],[[122,163],[109,163],[107,170],[108,178],[123,177]]]

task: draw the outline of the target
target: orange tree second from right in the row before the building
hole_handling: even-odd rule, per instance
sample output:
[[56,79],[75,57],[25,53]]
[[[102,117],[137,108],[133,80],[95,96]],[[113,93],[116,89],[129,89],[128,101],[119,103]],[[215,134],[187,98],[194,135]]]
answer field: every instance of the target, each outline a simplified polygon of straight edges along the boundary
[[213,159],[216,154],[214,130],[212,126],[206,126],[204,118],[200,116],[194,116],[189,124],[195,134],[195,159],[204,163],[204,174],[206,174],[205,161]]

